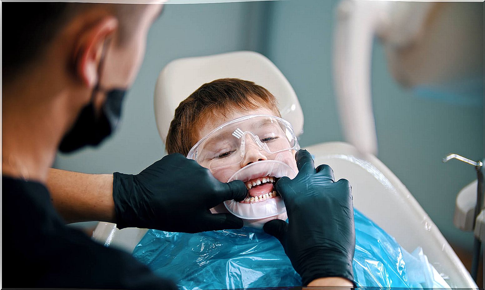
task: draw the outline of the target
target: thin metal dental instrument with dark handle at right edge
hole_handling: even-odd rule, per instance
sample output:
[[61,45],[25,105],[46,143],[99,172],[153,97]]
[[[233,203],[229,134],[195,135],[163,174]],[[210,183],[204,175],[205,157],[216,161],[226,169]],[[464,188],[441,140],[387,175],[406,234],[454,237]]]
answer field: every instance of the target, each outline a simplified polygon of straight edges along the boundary
[[[443,162],[450,161],[451,159],[458,159],[460,161],[463,161],[465,163],[468,163],[470,165],[475,166],[475,170],[477,171],[477,180],[478,180],[478,186],[477,186],[477,203],[475,205],[475,212],[473,214],[473,230],[475,229],[475,223],[476,219],[480,213],[480,210],[482,208],[482,202],[483,202],[483,197],[484,197],[484,174],[483,174],[483,162],[482,161],[473,161],[468,158],[465,158],[463,156],[460,156],[458,154],[448,154],[445,158],[443,158]],[[477,281],[477,275],[478,275],[478,263],[480,260],[480,250],[482,248],[482,242],[478,237],[475,236],[473,240],[473,260],[471,261],[471,277],[475,282]]]

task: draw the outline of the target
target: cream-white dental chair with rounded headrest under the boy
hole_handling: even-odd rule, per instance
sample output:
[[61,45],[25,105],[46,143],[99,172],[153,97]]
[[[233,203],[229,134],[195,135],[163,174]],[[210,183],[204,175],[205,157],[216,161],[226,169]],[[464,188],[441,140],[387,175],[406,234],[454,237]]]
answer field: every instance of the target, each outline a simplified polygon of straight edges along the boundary
[[[179,102],[204,83],[219,78],[241,78],[266,87],[278,100],[282,118],[295,133],[303,132],[303,111],[298,98],[281,71],[265,56],[253,51],[235,51],[203,57],[183,58],[162,69],[154,94],[157,127],[165,142],[170,121]],[[429,262],[456,288],[477,288],[469,273],[436,225],[403,183],[374,155],[362,154],[343,142],[309,146],[315,164],[328,164],[336,180],[346,178],[352,185],[354,206],[412,252],[422,247]],[[146,229],[116,229],[113,223],[99,222],[93,238],[132,252]]]

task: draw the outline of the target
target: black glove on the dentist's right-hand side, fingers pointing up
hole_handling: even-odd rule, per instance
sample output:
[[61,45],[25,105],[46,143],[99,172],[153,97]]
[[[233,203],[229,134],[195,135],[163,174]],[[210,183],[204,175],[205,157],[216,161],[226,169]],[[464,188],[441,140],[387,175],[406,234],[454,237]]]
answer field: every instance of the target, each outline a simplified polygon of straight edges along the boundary
[[299,172],[294,179],[282,177],[276,182],[288,223],[273,220],[263,229],[279,239],[304,286],[323,277],[343,277],[355,285],[356,232],[350,184],[346,179],[334,182],[328,165],[315,170],[306,150],[296,153],[296,163]]

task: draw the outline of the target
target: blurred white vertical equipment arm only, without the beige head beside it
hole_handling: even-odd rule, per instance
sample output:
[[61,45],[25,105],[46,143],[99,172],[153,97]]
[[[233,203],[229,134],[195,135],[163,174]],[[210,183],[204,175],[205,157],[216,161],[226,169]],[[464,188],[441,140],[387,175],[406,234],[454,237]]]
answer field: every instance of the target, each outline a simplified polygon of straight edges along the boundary
[[[376,6],[370,9],[369,5]],[[370,64],[380,1],[339,3],[334,40],[334,84],[345,140],[360,152],[377,153]]]

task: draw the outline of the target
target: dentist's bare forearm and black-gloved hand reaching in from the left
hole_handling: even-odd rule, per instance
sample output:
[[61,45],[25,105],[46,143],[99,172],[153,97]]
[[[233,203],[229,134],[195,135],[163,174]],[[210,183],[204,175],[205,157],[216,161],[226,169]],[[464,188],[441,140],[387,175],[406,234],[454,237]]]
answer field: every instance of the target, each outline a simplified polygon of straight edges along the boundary
[[182,154],[170,154],[138,174],[108,175],[51,170],[52,201],[68,222],[107,221],[118,228],[139,227],[197,233],[241,228],[229,213],[210,213],[226,200],[246,197],[242,181],[218,181]]

